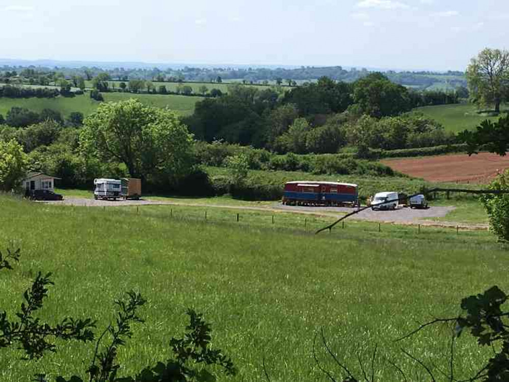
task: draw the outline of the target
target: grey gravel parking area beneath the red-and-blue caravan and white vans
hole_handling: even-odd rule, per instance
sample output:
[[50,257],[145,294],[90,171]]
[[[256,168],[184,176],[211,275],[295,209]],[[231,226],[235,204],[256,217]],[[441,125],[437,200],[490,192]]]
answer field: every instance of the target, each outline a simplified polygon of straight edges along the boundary
[[[347,207],[301,207],[301,206],[286,206],[281,203],[274,205],[274,208],[286,211],[308,211],[308,212],[338,212],[341,214],[350,213],[355,211],[355,208]],[[426,209],[412,209],[412,208],[397,208],[389,211],[373,211],[371,208],[365,209],[362,212],[352,216],[351,219],[381,221],[381,222],[395,222],[395,223],[411,223],[420,220],[428,219],[430,217],[445,217],[455,207],[430,207]]]

